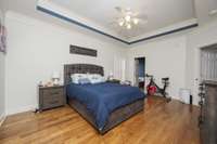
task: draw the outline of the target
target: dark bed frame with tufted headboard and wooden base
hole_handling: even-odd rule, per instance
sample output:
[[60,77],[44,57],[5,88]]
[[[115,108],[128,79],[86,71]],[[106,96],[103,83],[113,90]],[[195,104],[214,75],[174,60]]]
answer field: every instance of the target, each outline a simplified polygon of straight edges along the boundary
[[[64,66],[64,83],[67,86],[71,82],[72,74],[100,74],[104,76],[103,67],[91,64],[69,64]],[[68,97],[68,96],[67,96]],[[78,112],[88,122],[90,122],[101,134],[104,134],[115,126],[127,120],[137,113],[143,110],[144,100],[138,100],[131,104],[122,106],[110,114],[105,127],[101,130],[98,129],[93,116],[87,110],[85,104],[75,99],[67,99],[67,103],[76,112]]]

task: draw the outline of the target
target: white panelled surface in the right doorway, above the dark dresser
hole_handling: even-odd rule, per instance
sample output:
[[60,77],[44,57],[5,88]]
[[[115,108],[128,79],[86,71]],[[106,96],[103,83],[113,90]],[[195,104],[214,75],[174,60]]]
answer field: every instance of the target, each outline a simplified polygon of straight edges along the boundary
[[202,80],[217,81],[217,52],[216,51],[202,51],[201,78]]

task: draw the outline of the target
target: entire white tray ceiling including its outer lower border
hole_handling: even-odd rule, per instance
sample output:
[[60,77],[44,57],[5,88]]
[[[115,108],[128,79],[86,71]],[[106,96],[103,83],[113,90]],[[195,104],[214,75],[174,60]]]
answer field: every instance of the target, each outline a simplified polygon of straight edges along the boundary
[[[199,26],[216,21],[217,14],[209,14],[212,11],[217,11],[216,1],[217,0],[0,0],[0,8],[5,13],[8,11],[13,11],[43,22],[52,23],[53,25],[72,28],[74,30],[77,28],[88,34],[92,32],[90,30],[84,30],[81,27],[78,28],[72,23],[63,22],[63,19],[53,18],[53,16],[41,13],[36,9],[37,5],[44,8],[44,4],[40,4],[40,2],[56,3],[60,8],[74,14],[67,15],[64,11],[61,13],[59,9],[49,10],[62,15],[67,15],[69,16],[68,18],[78,19],[78,22],[115,38],[131,42],[155,36],[157,32],[161,34],[188,26],[193,22],[195,23],[195,21],[191,21],[191,18],[194,17]],[[48,5],[46,6],[49,8]],[[114,28],[110,25],[111,19],[117,16],[114,10],[115,6],[130,6],[133,11],[144,13],[149,16],[149,23],[141,26],[139,29],[126,31],[120,36],[116,34],[119,28]],[[191,23],[186,23],[186,19],[190,19],[187,22]],[[129,39],[125,38],[126,35],[129,36]]]

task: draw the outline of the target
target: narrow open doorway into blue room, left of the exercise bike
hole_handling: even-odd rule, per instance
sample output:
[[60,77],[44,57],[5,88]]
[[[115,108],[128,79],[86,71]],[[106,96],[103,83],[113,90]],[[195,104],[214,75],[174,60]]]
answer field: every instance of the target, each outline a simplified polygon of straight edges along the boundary
[[145,57],[135,58],[135,84],[141,90],[145,87]]

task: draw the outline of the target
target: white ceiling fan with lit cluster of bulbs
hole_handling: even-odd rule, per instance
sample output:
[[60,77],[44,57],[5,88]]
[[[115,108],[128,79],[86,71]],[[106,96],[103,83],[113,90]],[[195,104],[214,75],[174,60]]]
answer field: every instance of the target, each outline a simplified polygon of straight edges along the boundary
[[116,6],[115,10],[119,13],[119,16],[115,18],[115,23],[123,28],[131,29],[139,24],[148,23],[145,14],[132,12],[130,8]]

